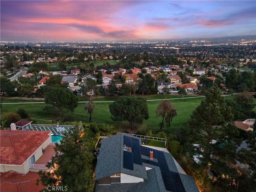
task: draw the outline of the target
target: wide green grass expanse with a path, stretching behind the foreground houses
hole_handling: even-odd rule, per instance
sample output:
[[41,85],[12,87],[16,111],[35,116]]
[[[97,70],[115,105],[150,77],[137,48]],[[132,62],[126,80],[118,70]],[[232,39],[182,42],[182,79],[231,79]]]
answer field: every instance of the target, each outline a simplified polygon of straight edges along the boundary
[[[154,99],[159,99],[162,95],[152,96]],[[171,96],[170,96],[171,97]],[[147,99],[152,99],[147,97]],[[97,98],[96,100],[116,100],[117,97],[111,98]],[[5,99],[1,98],[1,102],[10,103],[10,102],[30,102],[32,100],[15,100],[15,99]],[[190,98],[183,100],[170,100],[172,105],[176,108],[177,116],[172,120],[171,128],[179,128],[180,126],[184,126],[192,111],[200,104],[202,98]],[[33,100],[33,102],[36,102]],[[43,102],[40,100],[38,102]],[[161,121],[160,118],[156,118],[156,107],[161,101],[148,101],[148,111],[150,118],[148,120],[144,120],[144,123],[147,124],[148,128],[152,130],[159,129],[159,123]],[[130,125],[127,121],[123,122],[113,122],[110,118],[110,112],[108,105],[110,103],[95,103],[94,112],[92,114],[92,121],[94,122],[104,122],[106,124],[114,124],[117,127],[121,127],[124,129],[130,128]],[[62,118],[58,118],[58,113],[55,115],[49,114],[49,112],[44,111],[43,108],[46,104],[2,104],[1,113],[6,111],[17,112],[18,108],[24,108],[30,118],[37,122],[51,122],[52,120],[61,121]],[[84,110],[84,103],[79,103],[78,107],[74,110],[74,118],[75,121],[79,122],[88,122],[89,114]],[[164,127],[166,128],[166,127]]]

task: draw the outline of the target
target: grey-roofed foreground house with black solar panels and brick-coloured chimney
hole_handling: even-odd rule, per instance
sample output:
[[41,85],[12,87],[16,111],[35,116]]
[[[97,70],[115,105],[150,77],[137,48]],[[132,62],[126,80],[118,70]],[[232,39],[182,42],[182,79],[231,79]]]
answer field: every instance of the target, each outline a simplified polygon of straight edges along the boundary
[[186,175],[166,148],[149,147],[123,133],[102,139],[95,192],[199,192],[192,176]]

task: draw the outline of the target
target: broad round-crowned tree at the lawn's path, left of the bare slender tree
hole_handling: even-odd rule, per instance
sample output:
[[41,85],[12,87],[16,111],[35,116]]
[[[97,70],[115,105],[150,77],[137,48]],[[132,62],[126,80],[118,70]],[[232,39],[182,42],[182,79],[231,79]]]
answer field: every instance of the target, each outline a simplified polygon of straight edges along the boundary
[[45,95],[44,102],[57,107],[60,116],[62,116],[64,108],[73,112],[78,106],[78,98],[70,90],[61,87],[50,88]]

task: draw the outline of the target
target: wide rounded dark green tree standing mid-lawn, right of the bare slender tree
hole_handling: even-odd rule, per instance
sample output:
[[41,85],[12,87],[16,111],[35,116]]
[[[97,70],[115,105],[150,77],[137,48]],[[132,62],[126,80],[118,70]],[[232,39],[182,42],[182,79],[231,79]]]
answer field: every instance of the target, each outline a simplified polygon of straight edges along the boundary
[[109,105],[111,119],[113,121],[127,120],[134,128],[135,124],[142,124],[149,118],[148,105],[144,98],[124,96]]

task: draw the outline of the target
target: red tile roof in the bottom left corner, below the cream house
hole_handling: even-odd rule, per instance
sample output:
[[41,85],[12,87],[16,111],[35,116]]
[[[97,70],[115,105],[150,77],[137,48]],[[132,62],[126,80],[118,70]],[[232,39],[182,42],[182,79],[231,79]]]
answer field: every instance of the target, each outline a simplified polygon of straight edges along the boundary
[[37,172],[28,172],[21,174],[15,171],[1,173],[1,191],[5,192],[36,192],[46,187],[40,182],[36,184],[39,178]]

